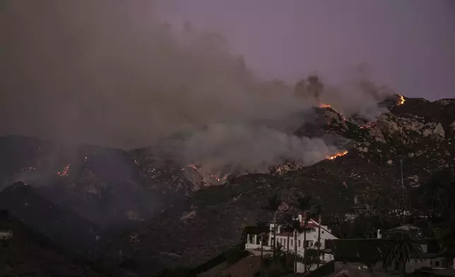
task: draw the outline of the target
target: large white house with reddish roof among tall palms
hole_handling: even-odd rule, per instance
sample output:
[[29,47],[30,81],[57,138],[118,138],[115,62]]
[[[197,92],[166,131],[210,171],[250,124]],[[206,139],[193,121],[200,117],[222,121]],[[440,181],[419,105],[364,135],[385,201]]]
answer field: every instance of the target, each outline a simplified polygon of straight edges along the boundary
[[[297,240],[294,240],[294,233],[293,232],[285,232],[283,230],[283,225],[277,224],[276,226],[276,244],[281,245],[281,249],[285,252],[294,253],[295,244],[297,244],[297,254],[301,257],[304,257],[305,249],[317,249],[317,242],[319,236],[319,223],[315,220],[309,220],[306,226],[304,226],[303,217],[302,215],[298,216],[298,220],[300,221],[300,225],[305,227],[306,240],[305,245],[303,244],[304,241],[304,233],[297,234]],[[268,240],[265,241],[263,250],[266,254],[271,253],[273,239],[275,235],[273,235],[273,228],[274,224],[271,223],[269,225],[270,232],[268,235]],[[326,225],[321,225],[321,250],[326,250],[326,241],[327,240],[336,240],[335,237],[331,233],[331,229]],[[288,243],[289,240],[289,243]],[[289,248],[288,248],[289,247]],[[247,249],[252,254],[260,254],[261,251],[261,242],[259,239],[259,235],[247,235],[247,243],[245,244],[245,249]],[[328,254],[324,251],[321,251],[321,261],[322,263],[326,263],[328,261],[333,260],[333,254]],[[303,264],[297,264],[297,272],[301,273],[304,271]]]

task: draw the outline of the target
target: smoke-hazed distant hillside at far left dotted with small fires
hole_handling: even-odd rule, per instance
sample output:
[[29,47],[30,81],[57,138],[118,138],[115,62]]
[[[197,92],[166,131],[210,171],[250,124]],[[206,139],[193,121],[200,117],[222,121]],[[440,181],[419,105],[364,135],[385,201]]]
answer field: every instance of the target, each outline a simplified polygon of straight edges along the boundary
[[0,189],[24,182],[100,228],[151,218],[192,189],[180,167],[150,157],[148,149],[126,152],[4,136],[0,153]]

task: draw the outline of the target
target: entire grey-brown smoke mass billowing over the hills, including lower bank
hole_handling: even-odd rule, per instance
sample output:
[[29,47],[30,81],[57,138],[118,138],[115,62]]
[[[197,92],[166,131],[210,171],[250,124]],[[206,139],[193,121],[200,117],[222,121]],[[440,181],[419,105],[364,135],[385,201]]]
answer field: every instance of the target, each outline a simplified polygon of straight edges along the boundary
[[[309,164],[338,151],[290,135],[314,104],[295,98],[293,86],[258,80],[223,35],[162,23],[155,8],[152,1],[4,1],[0,131],[136,148],[190,130],[179,155],[215,171]],[[344,89],[326,86],[324,99],[348,114],[376,107],[361,90],[345,98]]]

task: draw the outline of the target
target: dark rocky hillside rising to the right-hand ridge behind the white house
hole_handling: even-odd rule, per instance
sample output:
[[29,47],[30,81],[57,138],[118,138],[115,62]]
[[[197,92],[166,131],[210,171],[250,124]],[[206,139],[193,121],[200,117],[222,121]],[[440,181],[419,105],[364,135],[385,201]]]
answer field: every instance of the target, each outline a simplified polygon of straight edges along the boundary
[[[137,257],[141,272],[155,269],[153,261],[167,266],[199,264],[237,243],[242,226],[270,220],[261,206],[273,191],[285,199],[283,209],[295,194],[314,195],[326,219],[371,204],[368,190],[383,196],[377,206],[387,212],[402,208],[400,160],[406,194],[432,172],[455,165],[455,100],[396,101],[390,112],[366,126],[343,119],[331,108],[319,110],[324,133],[352,140],[348,153],[310,167],[292,170],[299,167],[285,165],[274,174],[244,175],[196,191],[182,205],[186,208],[172,208],[124,233],[112,249]],[[298,132],[304,135],[305,126]]]

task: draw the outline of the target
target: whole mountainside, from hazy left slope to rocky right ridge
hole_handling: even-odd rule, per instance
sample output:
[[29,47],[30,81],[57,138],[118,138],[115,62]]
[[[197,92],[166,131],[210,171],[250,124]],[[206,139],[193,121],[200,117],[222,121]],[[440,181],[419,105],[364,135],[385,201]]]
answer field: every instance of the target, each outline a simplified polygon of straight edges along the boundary
[[[324,220],[330,220],[334,214],[355,212],[358,206],[401,208],[400,160],[406,194],[432,172],[454,167],[455,100],[429,102],[396,95],[380,105],[389,112],[374,122],[317,107],[313,118],[296,130],[297,136],[348,139],[338,155],[309,167],[288,163],[269,174],[231,177],[209,187],[187,179],[182,165],[154,148],[121,151],[7,136],[0,138],[2,180],[4,184],[23,180],[33,189],[14,194],[13,187],[7,187],[0,199],[20,206],[23,195],[32,190],[100,230],[122,228],[105,244],[103,256],[117,265],[125,258],[134,260],[132,270],[138,273],[201,264],[237,244],[242,226],[269,220],[271,215],[261,206],[274,191],[285,201],[283,211],[296,194],[314,195]],[[372,203],[377,199],[368,191],[384,197],[379,204]],[[47,213],[43,205],[36,206],[41,214]],[[21,213],[33,215],[25,208]],[[47,225],[47,220],[40,224]],[[34,228],[43,230],[39,224]],[[65,240],[71,237],[59,244]]]

